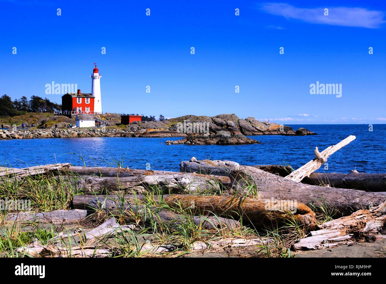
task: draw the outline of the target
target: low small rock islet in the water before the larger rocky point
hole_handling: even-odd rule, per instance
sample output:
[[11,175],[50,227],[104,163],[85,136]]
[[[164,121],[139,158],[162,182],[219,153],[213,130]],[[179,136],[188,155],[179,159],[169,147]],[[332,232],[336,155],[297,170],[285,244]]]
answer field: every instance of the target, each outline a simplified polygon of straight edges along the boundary
[[241,145],[260,143],[257,140],[245,137],[241,133],[229,131],[218,131],[215,135],[193,135],[180,140],[167,140],[166,145],[185,144],[185,145]]

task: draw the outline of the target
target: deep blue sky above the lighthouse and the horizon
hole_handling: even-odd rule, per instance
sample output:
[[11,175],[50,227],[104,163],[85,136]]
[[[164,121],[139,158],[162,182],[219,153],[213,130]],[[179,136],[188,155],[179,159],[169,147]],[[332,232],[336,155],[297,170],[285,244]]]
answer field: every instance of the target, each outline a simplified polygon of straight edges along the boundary
[[45,85],[91,92],[96,62],[104,112],[385,123],[386,4],[282,1],[0,0],[0,94],[61,102]]

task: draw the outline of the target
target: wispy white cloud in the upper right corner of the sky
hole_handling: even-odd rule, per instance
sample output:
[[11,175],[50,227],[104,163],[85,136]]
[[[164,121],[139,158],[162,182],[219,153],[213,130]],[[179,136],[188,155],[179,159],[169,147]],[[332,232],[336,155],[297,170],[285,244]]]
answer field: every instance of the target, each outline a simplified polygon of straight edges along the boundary
[[[328,8],[328,16],[324,9]],[[296,19],[312,24],[326,24],[345,27],[378,28],[385,22],[384,12],[350,7],[298,8],[288,3],[265,3],[262,10],[269,14]]]

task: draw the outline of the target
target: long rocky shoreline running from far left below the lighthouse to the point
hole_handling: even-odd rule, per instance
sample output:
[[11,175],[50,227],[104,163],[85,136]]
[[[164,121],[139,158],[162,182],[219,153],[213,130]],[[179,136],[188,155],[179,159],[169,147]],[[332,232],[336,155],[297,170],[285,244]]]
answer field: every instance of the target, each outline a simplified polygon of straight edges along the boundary
[[[56,116],[58,117],[58,116]],[[45,121],[44,121],[45,122]],[[49,125],[52,123],[48,123]],[[181,116],[165,121],[134,121],[129,125],[114,125],[106,129],[100,128],[38,128],[38,129],[0,129],[0,139],[25,139],[25,138],[73,138],[73,137],[187,137],[182,143],[190,141],[192,144],[219,144],[225,138],[215,138],[218,132],[231,136],[228,139],[232,144],[250,144],[249,135],[314,135],[307,129],[300,128],[297,131],[282,124],[257,121],[253,117],[239,119],[235,114],[220,114],[215,117],[209,116]],[[240,136],[240,135],[241,136]],[[198,138],[202,136],[202,138]],[[211,139],[207,137],[210,136]],[[223,136],[223,135],[222,135]],[[245,137],[245,138],[244,138]],[[213,139],[212,139],[213,138]],[[193,140],[192,140],[193,139]],[[225,139],[225,140],[224,140]],[[251,139],[253,140],[253,139]],[[239,142],[240,143],[239,143]],[[255,140],[256,141],[256,140]],[[174,143],[173,144],[181,144]]]

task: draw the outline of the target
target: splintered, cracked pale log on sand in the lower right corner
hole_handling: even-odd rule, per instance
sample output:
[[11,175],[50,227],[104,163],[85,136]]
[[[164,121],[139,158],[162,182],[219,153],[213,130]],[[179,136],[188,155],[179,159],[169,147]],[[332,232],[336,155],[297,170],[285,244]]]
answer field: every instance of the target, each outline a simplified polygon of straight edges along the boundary
[[363,209],[339,219],[318,225],[318,231],[296,242],[293,248],[317,250],[354,242],[385,238],[386,201],[371,209]]

